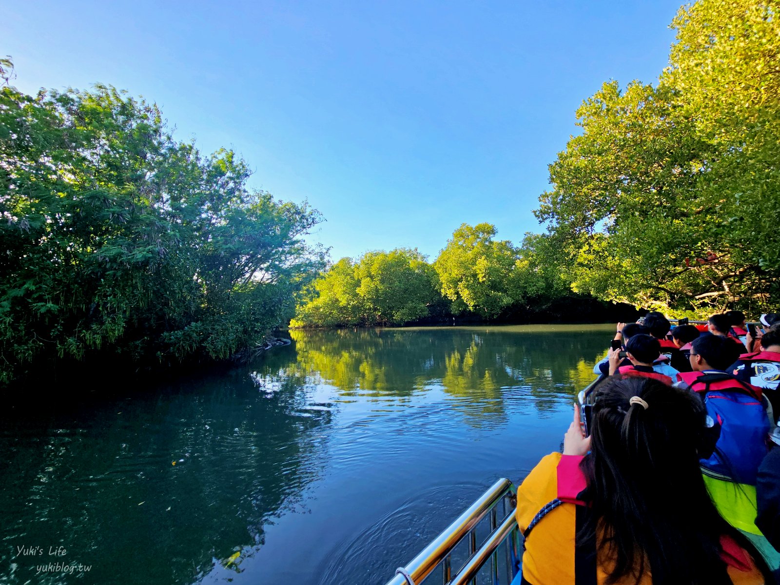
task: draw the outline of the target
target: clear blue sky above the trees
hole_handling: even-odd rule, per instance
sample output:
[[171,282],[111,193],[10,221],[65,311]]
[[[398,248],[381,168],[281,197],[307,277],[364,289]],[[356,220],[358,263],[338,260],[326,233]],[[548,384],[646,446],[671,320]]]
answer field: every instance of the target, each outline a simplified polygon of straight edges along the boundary
[[3,2],[16,87],[110,83],[176,137],[231,147],[250,184],[308,199],[334,260],[461,223],[519,242],[574,111],[606,80],[656,80],[680,0]]

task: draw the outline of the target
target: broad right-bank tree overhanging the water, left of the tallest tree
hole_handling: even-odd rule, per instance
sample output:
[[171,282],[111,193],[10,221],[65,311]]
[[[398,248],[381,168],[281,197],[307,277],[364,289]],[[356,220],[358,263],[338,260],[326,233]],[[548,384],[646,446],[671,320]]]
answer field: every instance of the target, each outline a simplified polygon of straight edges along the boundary
[[710,218],[696,212],[707,147],[675,99],[611,82],[577,110],[583,133],[550,165],[554,190],[536,211],[575,291],[667,307],[706,287],[697,271],[677,274],[687,257],[707,256],[696,236]]

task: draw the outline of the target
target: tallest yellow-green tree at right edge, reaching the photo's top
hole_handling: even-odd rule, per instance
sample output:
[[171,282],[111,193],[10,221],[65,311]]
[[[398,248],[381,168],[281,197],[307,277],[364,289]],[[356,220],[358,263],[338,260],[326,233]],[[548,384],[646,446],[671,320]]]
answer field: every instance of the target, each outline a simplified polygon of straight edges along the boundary
[[[672,23],[677,43],[664,83],[679,88],[686,115],[717,153],[700,182],[714,210],[718,251],[732,270],[717,302],[775,308],[780,255],[780,22],[778,5],[700,0]],[[735,286],[736,285],[736,286]],[[717,295],[715,294],[717,293]]]

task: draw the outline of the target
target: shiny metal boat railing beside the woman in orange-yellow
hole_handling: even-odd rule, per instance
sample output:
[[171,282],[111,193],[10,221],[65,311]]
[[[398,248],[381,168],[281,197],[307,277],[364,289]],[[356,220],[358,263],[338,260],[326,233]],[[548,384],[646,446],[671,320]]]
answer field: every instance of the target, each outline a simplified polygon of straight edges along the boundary
[[519,542],[515,507],[512,482],[496,481],[408,565],[396,569],[387,585],[511,583]]

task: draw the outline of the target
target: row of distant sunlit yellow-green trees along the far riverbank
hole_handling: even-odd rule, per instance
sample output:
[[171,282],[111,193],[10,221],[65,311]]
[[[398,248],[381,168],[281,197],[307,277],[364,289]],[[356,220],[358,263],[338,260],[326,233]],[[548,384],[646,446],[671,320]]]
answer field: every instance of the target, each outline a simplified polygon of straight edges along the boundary
[[551,264],[555,252],[548,236],[528,234],[521,246],[513,246],[495,240],[495,234],[488,223],[463,224],[433,264],[417,250],[369,252],[354,262],[342,258],[302,296],[290,325],[406,324],[453,316],[573,318],[583,300],[592,300],[572,293]]

